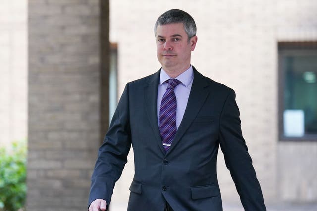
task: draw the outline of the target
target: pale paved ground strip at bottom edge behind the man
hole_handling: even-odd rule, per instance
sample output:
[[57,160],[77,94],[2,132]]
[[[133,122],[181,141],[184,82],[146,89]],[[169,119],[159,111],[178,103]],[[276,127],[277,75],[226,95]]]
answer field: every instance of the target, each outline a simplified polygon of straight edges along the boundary
[[[111,211],[126,211],[126,204],[111,204]],[[317,203],[294,204],[294,203],[275,203],[267,204],[267,211],[317,211]],[[244,211],[242,205],[224,204],[223,211]]]

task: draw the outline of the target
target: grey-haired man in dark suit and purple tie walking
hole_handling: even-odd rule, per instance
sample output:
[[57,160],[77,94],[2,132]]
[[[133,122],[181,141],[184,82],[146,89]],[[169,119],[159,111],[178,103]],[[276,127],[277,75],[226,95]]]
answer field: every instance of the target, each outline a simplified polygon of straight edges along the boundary
[[246,211],[266,211],[232,89],[191,66],[196,25],[172,9],[155,24],[162,68],[126,85],[92,175],[89,211],[106,210],[132,144],[128,211],[222,211],[219,145]]

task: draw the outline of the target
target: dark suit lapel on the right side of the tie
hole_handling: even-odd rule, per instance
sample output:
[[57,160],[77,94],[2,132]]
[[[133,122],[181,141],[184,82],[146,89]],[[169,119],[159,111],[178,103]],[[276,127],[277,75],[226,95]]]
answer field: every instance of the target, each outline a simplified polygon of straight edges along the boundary
[[[170,153],[173,148],[177,145],[180,139],[183,137],[188,127],[192,124],[193,120],[197,116],[199,110],[203,106],[209,91],[205,89],[209,84],[202,74],[200,74],[194,67],[194,80],[192,88],[189,94],[186,110],[181,121],[180,126],[176,132],[175,138],[172,142],[171,147],[169,148],[168,153]],[[158,121],[157,121],[158,122]]]

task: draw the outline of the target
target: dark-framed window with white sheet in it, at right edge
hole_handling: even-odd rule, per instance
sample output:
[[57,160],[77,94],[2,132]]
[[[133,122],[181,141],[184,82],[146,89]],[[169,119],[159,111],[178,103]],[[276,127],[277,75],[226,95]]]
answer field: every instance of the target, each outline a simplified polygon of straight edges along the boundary
[[280,140],[317,141],[317,42],[279,42]]

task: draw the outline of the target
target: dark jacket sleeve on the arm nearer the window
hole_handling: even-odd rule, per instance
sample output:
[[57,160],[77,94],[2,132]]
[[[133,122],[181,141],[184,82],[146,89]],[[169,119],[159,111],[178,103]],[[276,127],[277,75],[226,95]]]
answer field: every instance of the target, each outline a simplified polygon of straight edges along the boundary
[[230,89],[220,116],[220,147],[245,211],[266,211],[252,159],[242,136],[235,92]]

